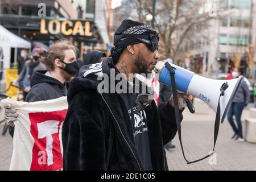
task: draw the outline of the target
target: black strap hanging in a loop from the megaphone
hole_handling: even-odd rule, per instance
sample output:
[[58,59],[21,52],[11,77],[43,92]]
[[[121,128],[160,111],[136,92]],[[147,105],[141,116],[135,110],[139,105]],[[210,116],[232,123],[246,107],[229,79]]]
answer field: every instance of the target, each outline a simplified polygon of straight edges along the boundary
[[196,163],[196,162],[199,162],[201,160],[207,159],[209,156],[212,156],[215,153],[214,149],[215,149],[215,145],[216,145],[216,141],[217,141],[217,137],[218,137],[218,130],[220,128],[220,98],[221,98],[221,96],[224,96],[225,90],[228,88],[228,82],[225,82],[221,86],[221,89],[220,89],[221,93],[220,93],[220,97],[218,98],[218,107],[217,107],[215,124],[214,124],[214,144],[213,144],[213,150],[207,156],[204,156],[201,159],[197,159],[197,160],[194,160],[194,161],[190,162],[185,157],[185,153],[184,153],[184,149],[183,149],[183,144],[182,144],[182,139],[181,139],[180,113],[179,113],[179,108],[178,108],[177,89],[176,89],[176,82],[175,82],[175,76],[174,76],[175,75],[175,71],[172,68],[172,66],[170,65],[170,63],[166,62],[165,65],[168,68],[168,70],[170,72],[170,75],[171,75],[171,86],[172,86],[172,94],[173,94],[173,97],[174,97],[174,110],[175,110],[177,132],[178,132],[178,135],[179,135],[180,146],[181,146],[183,158],[185,159],[187,164],[192,164],[192,163]]

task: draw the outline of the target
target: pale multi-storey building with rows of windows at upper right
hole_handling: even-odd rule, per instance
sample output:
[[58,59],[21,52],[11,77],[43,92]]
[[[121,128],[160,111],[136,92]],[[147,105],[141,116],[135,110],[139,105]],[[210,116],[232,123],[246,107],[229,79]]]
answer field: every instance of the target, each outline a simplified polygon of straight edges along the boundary
[[199,73],[229,73],[233,67],[244,65],[251,69],[253,52],[254,0],[220,0],[217,17],[195,27],[194,38],[185,42],[184,63],[193,63]]

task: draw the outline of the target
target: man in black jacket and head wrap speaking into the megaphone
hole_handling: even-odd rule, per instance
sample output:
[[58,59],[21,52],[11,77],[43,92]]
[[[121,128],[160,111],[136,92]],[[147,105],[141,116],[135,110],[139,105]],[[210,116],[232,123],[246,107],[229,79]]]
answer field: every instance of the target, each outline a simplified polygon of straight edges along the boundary
[[[177,131],[173,98],[157,107],[150,88],[126,93],[130,85],[143,86],[134,85],[129,73],[151,73],[155,67],[158,41],[152,27],[123,20],[115,31],[112,58],[82,67],[71,81],[62,131],[63,170],[168,170],[163,146]],[[101,85],[101,78],[111,83],[107,78],[113,73],[125,80],[124,92]],[[116,88],[119,82],[113,82]],[[184,108],[179,109],[181,115]]]

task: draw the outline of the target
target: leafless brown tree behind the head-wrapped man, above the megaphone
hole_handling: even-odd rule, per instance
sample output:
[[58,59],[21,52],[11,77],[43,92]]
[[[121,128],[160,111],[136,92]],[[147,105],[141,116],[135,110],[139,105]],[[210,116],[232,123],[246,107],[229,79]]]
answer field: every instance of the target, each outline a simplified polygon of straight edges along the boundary
[[[152,14],[152,1],[128,1],[137,10],[139,20],[146,22],[146,15]],[[216,3],[218,1],[216,0]],[[207,25],[210,19],[225,16],[225,10],[213,9],[209,6],[214,3],[207,3],[206,0],[156,0],[155,26],[160,35],[160,52],[164,56],[176,59],[181,45],[185,40],[191,39],[189,35],[195,27]],[[213,10],[216,12],[211,12]],[[195,39],[195,36],[193,38]]]

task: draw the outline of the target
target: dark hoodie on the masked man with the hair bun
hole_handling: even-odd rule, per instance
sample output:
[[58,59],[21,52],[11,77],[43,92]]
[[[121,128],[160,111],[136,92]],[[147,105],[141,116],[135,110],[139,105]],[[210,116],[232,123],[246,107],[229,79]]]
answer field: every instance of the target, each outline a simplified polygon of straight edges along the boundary
[[47,71],[36,71],[31,78],[31,90],[26,102],[46,101],[67,96],[66,85],[55,78],[46,76]]

